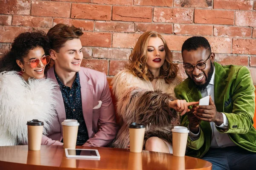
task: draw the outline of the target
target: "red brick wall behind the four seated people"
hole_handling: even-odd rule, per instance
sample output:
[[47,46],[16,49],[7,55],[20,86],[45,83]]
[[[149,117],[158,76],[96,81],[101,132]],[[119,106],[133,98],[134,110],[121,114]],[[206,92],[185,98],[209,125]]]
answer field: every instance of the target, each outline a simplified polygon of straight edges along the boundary
[[0,54],[21,32],[57,23],[81,27],[82,66],[115,75],[128,63],[138,37],[163,34],[180,66],[181,45],[206,37],[215,61],[247,66],[256,84],[256,2],[253,0],[0,0]]

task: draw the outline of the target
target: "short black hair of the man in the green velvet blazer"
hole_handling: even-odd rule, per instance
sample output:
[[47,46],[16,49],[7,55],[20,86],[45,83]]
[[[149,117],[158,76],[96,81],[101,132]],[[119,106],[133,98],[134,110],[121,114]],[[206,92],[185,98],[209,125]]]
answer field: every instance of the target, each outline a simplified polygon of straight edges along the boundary
[[210,53],[212,52],[211,45],[209,44],[208,40],[204,37],[191,37],[187,39],[182,45],[181,52],[183,52],[184,50],[194,51],[200,47],[209,49]]

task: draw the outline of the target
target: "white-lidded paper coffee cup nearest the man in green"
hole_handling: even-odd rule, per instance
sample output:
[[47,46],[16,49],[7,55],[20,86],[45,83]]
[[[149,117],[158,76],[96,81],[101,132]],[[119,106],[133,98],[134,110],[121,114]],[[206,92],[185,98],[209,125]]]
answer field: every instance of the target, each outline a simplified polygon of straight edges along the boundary
[[185,156],[189,130],[183,126],[175,126],[172,129],[173,156]]

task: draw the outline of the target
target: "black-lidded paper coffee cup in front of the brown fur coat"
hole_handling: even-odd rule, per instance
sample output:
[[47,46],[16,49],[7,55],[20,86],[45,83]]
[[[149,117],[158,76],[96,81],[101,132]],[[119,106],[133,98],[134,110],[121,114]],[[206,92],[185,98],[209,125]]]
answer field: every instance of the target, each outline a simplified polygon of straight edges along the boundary
[[143,148],[145,126],[132,122],[129,125],[130,132],[130,152],[140,153]]

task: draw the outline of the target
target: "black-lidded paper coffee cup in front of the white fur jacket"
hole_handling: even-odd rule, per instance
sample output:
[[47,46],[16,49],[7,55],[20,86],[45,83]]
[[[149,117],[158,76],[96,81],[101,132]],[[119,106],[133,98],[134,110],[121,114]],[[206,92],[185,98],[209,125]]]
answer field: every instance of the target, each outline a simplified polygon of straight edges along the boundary
[[40,150],[44,129],[44,122],[33,119],[27,122],[29,150]]

